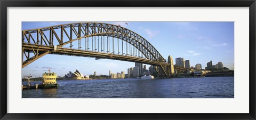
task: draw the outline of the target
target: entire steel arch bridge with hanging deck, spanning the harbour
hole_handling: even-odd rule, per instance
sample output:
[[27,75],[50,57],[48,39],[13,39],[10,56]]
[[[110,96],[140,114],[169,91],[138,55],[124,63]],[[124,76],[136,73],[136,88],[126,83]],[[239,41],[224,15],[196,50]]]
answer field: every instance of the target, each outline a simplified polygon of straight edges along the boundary
[[22,30],[22,68],[45,54],[146,63],[153,65],[159,76],[168,76],[168,64],[153,45],[134,31],[109,23],[79,22]]

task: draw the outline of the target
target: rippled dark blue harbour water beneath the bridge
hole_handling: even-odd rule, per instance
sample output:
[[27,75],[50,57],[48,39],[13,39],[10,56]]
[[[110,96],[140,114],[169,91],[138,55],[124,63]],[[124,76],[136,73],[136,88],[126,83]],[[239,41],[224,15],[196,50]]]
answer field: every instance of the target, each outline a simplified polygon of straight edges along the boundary
[[58,89],[22,90],[22,98],[234,98],[234,77],[71,80],[58,83]]

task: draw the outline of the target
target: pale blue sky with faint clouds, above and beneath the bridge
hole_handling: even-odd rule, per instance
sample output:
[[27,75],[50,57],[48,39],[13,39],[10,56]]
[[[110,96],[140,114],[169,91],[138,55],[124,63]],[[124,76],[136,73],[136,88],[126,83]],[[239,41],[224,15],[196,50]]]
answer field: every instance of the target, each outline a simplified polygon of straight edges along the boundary
[[[72,22],[22,22],[22,30],[60,25]],[[224,67],[233,69],[234,65],[234,22],[104,22],[121,25],[138,33],[150,42],[167,60],[168,55],[190,60],[190,66],[197,63],[206,67],[212,60],[213,65],[221,61]],[[46,54],[42,58],[22,68],[22,77],[31,74],[42,77],[49,68],[64,76],[69,71],[79,70],[84,75],[121,73],[134,67],[134,62],[118,61],[67,55]],[[147,65],[147,68],[149,65]]]

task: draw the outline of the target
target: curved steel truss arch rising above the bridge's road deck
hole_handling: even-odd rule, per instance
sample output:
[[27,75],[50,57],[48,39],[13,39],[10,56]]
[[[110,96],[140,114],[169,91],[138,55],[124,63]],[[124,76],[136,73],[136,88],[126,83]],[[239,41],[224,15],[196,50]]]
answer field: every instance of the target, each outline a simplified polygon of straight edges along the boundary
[[[54,53],[53,47],[59,48],[70,44],[70,49],[72,49],[71,47],[73,42],[78,41],[79,44],[81,39],[85,38],[85,41],[89,41],[89,37],[94,37],[95,39],[97,36],[98,38],[106,36],[113,37],[113,39],[121,39],[122,41],[133,45],[145,56],[147,60],[157,62],[158,65],[154,65],[154,67],[156,69],[157,67],[160,67],[163,74],[167,75],[165,72],[166,60],[145,38],[122,26],[99,22],[68,23],[58,26],[22,30],[22,59],[23,53],[27,58],[25,61],[22,60],[22,67],[25,67],[34,60],[42,57],[42,55]],[[57,44],[53,44],[55,43],[54,39],[57,41]],[[28,48],[29,45],[31,48]],[[44,50],[40,49],[41,46],[44,46]],[[89,46],[87,47],[89,48]],[[27,52],[27,54],[25,52]],[[28,57],[30,52],[34,53],[34,57]]]

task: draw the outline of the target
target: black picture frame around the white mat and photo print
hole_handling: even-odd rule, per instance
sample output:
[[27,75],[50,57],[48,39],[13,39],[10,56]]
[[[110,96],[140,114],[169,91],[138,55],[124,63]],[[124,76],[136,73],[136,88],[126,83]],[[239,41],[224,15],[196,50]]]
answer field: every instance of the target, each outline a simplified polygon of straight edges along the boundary
[[[255,119],[255,0],[0,0],[1,4],[1,119]],[[249,114],[11,114],[7,113],[7,7],[249,7]]]

